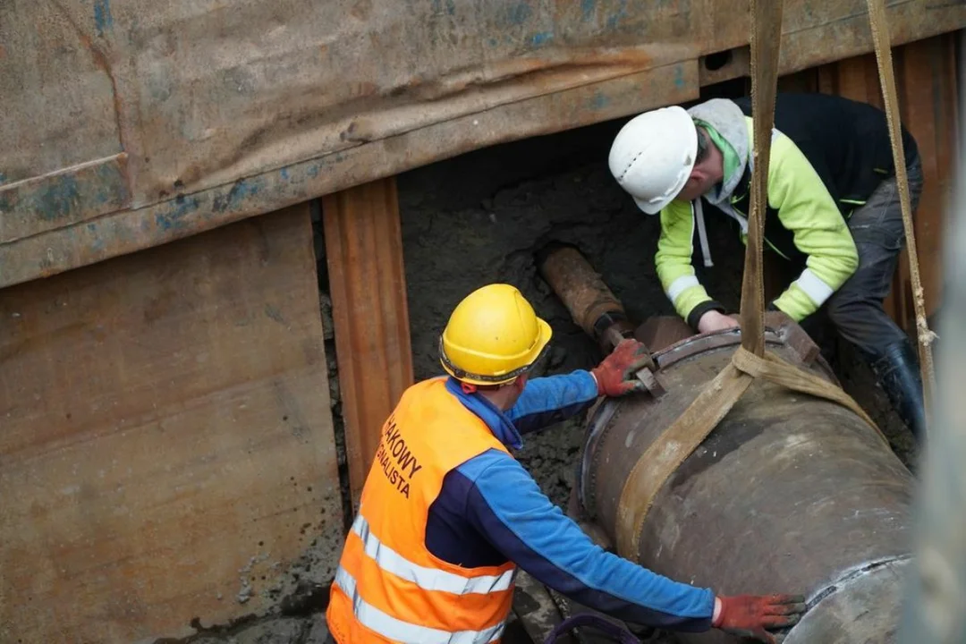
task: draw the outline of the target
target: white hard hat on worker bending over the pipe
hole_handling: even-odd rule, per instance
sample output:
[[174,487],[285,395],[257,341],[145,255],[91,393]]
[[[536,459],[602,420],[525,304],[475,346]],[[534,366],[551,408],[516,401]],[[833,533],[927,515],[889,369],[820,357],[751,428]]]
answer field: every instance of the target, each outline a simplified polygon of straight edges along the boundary
[[611,145],[611,175],[634,197],[638,208],[656,214],[691,176],[697,129],[680,106],[644,112],[627,122]]

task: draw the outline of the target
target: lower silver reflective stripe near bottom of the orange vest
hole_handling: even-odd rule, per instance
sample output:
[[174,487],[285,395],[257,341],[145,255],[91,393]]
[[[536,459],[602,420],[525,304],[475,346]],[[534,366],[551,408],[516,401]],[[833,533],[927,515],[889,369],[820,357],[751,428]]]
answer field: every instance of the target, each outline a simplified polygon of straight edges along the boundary
[[342,566],[339,566],[339,570],[335,573],[334,582],[352,602],[353,613],[358,623],[379,633],[386,639],[418,644],[489,644],[499,639],[505,627],[505,623],[500,622],[497,626],[486,630],[449,632],[410,624],[387,615],[376,606],[363,600],[356,592],[355,577]]

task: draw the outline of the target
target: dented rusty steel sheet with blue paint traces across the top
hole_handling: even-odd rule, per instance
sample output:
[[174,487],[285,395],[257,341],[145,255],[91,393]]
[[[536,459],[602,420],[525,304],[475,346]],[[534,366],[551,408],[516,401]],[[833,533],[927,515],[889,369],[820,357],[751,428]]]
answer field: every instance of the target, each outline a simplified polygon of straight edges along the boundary
[[[871,50],[787,0],[781,70]],[[894,42],[966,25],[907,0]],[[748,0],[0,3],[0,287],[512,139],[698,96]]]

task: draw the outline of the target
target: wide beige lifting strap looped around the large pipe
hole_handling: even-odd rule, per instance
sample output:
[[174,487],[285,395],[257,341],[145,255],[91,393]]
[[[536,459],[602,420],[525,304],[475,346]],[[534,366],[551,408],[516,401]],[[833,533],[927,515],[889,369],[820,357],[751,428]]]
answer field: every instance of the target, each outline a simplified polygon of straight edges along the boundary
[[[862,407],[838,386],[765,351],[762,239],[764,210],[768,204],[768,166],[775,123],[783,1],[752,0],[751,4],[754,167],[748,250],[741,291],[742,344],[725,369],[644,451],[624,483],[617,506],[617,550],[635,561],[639,558],[641,527],[658,492],[677,467],[711,434],[754,378],[764,378],[846,406],[879,432]],[[881,432],[879,436],[886,440]]]

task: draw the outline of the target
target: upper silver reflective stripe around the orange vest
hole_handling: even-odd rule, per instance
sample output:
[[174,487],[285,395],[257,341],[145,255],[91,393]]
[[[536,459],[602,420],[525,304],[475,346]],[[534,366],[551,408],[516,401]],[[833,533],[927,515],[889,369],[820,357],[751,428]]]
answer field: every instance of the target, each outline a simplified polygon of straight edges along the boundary
[[423,590],[443,591],[454,595],[496,593],[508,590],[513,584],[516,569],[503,574],[464,577],[414,564],[391,547],[385,546],[369,529],[369,522],[362,516],[362,512],[360,508],[353,521],[353,532],[362,540],[362,549],[366,556],[373,559],[386,573],[412,581]]

